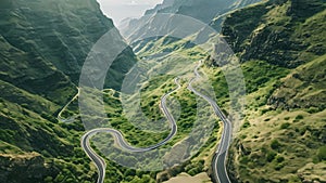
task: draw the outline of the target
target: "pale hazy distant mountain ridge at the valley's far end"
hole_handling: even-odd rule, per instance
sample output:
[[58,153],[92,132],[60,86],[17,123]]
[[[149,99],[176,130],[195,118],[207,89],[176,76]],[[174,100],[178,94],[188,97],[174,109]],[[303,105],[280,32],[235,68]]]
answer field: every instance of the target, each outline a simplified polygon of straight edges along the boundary
[[215,16],[259,1],[261,0],[166,0],[154,9],[147,11],[145,16],[139,19],[129,21],[127,25],[122,27],[121,31],[125,38],[133,42],[137,38],[151,35],[152,31],[158,30],[160,24],[162,27],[159,29],[170,28],[171,32],[177,28],[173,21],[177,17],[171,16],[165,19],[167,17],[160,15],[160,13],[185,15],[209,24]]

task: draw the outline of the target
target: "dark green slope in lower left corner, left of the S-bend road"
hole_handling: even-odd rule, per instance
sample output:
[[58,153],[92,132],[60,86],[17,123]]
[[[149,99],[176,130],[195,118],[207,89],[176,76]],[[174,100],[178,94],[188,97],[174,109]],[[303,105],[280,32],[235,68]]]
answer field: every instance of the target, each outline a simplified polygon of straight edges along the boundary
[[[33,108],[33,106],[25,108],[22,107],[24,105],[20,106],[5,100],[1,100],[0,106],[0,123],[2,127],[0,152],[3,160],[7,159],[4,155],[13,156],[13,159],[24,159],[25,156],[16,157],[16,155],[28,155],[32,152],[38,152],[37,158],[48,162],[48,166],[42,167],[41,161],[25,159],[26,164],[42,167],[39,172],[41,177],[38,179],[43,179],[45,177],[51,177],[52,179],[64,177],[65,180],[92,181],[91,177],[96,171],[87,169],[86,165],[89,168],[89,161],[85,160],[87,157],[82,148],[78,147],[82,133],[74,130],[78,126],[77,123],[68,126],[58,122],[54,118],[51,118],[53,119],[51,121],[43,118],[40,114],[28,109]],[[64,164],[68,167],[66,171],[60,173],[61,175],[58,174],[58,171],[50,171],[51,169],[61,170],[61,165],[55,161],[53,162],[55,158],[64,159]],[[21,160],[21,162],[9,161],[8,164],[14,167],[10,173],[17,173],[16,171],[18,171],[20,167],[24,168],[26,165],[22,162],[25,160]],[[30,169],[30,171],[33,173],[34,170]],[[79,178],[74,175],[83,174],[83,172],[89,173]],[[24,179],[24,177],[20,179]]]

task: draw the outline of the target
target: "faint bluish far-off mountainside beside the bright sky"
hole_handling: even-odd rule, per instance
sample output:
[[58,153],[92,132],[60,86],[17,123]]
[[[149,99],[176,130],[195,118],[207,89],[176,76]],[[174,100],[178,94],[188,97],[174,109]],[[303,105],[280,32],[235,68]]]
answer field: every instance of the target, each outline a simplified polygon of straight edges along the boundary
[[[158,30],[168,30],[166,36],[171,35],[178,30],[181,25],[178,23],[180,17],[185,18],[181,22],[189,22],[187,24],[195,25],[197,24],[195,23],[197,21],[209,25],[215,16],[227,14],[230,11],[241,9],[260,1],[261,0],[164,0],[155,8],[148,10],[142,17],[133,18],[126,22],[125,25],[121,26],[121,32],[128,41],[130,41],[134,48],[150,47],[150,41],[155,38],[150,37],[147,39],[138,39],[143,38],[143,36],[155,35],[155,32],[160,32]],[[168,17],[167,14],[173,16]],[[216,30],[218,29],[217,31],[220,32],[221,22],[215,22],[214,24]],[[185,35],[187,35],[186,32],[187,31],[185,31]],[[195,35],[196,32],[192,34]],[[135,40],[137,41],[134,42]],[[173,38],[170,41],[175,40],[177,39]],[[138,52],[138,50],[136,50],[136,52]]]

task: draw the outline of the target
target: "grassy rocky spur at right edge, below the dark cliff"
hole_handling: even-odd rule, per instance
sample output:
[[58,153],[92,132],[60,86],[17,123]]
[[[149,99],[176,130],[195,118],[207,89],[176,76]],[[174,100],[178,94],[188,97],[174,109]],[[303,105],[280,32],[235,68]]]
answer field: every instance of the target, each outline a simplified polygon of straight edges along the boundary
[[304,108],[309,113],[325,109],[326,55],[292,70],[280,80],[278,91],[273,93],[273,105],[283,108]]

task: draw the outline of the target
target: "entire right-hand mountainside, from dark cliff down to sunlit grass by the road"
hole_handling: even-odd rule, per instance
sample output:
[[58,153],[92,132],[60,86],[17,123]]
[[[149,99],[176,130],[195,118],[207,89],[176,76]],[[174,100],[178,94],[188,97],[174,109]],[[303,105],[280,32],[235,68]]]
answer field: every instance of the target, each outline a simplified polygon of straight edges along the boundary
[[325,5],[269,0],[224,22],[248,84],[247,115],[229,155],[235,182],[326,181]]

